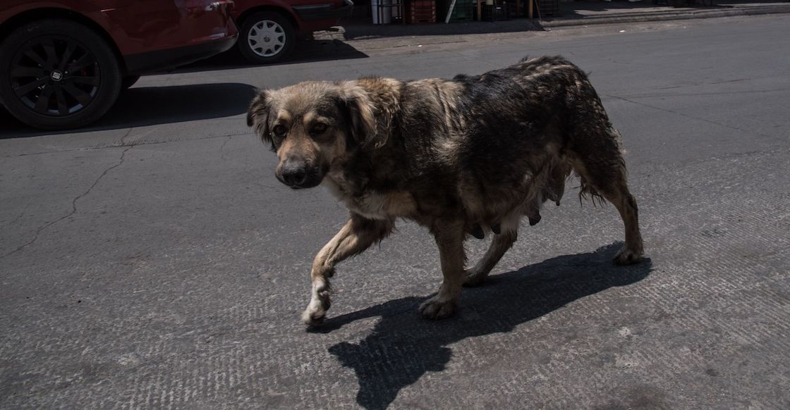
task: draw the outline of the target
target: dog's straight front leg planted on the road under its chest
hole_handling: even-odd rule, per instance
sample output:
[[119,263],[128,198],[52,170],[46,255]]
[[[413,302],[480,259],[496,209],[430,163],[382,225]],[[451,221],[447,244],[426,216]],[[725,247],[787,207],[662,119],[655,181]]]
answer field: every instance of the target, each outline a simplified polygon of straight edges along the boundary
[[461,298],[464,284],[464,225],[461,221],[442,221],[432,226],[434,239],[439,248],[444,280],[436,296],[426,300],[419,311],[428,319],[443,319],[453,314]]

